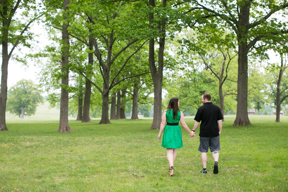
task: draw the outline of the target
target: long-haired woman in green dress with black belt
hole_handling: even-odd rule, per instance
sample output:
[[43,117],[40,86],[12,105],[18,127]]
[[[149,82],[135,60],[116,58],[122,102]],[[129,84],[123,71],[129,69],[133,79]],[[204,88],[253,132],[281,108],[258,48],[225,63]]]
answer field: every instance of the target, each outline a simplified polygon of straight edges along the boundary
[[[167,125],[165,126],[167,121]],[[158,138],[161,139],[161,133],[164,129],[162,147],[167,150],[167,158],[169,162],[170,176],[174,173],[174,162],[176,158],[176,149],[183,147],[182,134],[179,126],[179,121],[184,129],[190,133],[190,136],[195,136],[188,128],[184,121],[183,112],[179,110],[179,99],[173,97],[170,99],[167,109],[163,113],[163,118],[160,126]]]

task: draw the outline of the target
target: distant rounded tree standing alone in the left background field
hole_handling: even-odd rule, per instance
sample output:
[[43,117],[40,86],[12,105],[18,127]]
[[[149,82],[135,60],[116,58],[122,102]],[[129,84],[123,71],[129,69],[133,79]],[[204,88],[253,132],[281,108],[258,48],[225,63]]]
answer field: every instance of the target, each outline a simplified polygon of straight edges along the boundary
[[33,81],[22,79],[8,91],[7,110],[19,115],[21,119],[24,115],[35,115],[38,103],[44,104],[42,93],[43,91]]

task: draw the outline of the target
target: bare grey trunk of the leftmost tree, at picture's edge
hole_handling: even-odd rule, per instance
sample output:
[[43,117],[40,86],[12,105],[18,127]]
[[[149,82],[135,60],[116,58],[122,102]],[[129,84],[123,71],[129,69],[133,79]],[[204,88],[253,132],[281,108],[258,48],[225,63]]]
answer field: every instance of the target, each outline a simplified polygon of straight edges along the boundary
[[[4,25],[4,24],[3,24]],[[8,39],[8,31],[7,37]],[[8,131],[6,126],[6,102],[7,102],[7,78],[8,78],[8,43],[2,37],[2,67],[1,67],[1,91],[0,91],[0,131]]]

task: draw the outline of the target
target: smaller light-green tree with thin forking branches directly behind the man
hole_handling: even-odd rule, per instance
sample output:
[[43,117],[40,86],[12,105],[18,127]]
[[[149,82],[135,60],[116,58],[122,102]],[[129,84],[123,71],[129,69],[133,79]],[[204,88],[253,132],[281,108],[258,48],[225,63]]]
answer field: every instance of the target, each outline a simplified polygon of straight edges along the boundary
[[[227,31],[213,29],[207,26],[203,27],[200,31],[198,34],[194,31],[188,31],[188,33],[185,34],[187,39],[183,38],[182,44],[187,46],[189,52],[184,53],[182,49],[182,54],[192,54],[196,56],[195,58],[201,59],[205,65],[205,69],[209,69],[212,75],[218,79],[220,109],[224,117],[224,97],[227,95],[237,95],[236,85],[233,86],[235,82],[237,83],[237,77],[233,77],[234,74],[237,73],[237,71],[235,71],[237,67],[235,67],[234,62],[237,52],[235,50],[233,36],[227,33]],[[197,63],[202,62],[197,61]],[[229,81],[229,83],[225,83],[227,81]],[[226,84],[229,85],[224,86]],[[224,121],[224,119],[222,119],[222,121]]]

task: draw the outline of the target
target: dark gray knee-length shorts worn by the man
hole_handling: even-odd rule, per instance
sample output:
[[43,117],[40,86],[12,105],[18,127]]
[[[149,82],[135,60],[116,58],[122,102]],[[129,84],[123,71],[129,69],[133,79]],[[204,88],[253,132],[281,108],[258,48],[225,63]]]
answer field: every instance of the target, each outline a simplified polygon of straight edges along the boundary
[[198,151],[202,153],[208,152],[208,147],[211,152],[220,151],[220,139],[217,137],[200,137],[200,145]]

